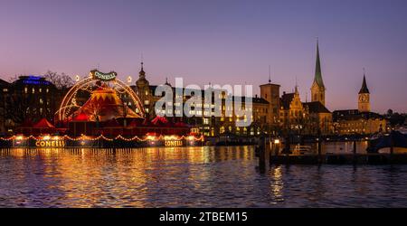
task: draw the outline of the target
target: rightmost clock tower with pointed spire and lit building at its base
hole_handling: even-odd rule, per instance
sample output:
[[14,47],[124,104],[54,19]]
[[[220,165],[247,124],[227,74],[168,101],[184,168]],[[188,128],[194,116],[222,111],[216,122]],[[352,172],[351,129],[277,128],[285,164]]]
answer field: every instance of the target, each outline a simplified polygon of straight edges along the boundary
[[338,135],[370,135],[386,130],[386,119],[370,111],[370,92],[366,78],[358,94],[358,108],[334,111],[335,133]]

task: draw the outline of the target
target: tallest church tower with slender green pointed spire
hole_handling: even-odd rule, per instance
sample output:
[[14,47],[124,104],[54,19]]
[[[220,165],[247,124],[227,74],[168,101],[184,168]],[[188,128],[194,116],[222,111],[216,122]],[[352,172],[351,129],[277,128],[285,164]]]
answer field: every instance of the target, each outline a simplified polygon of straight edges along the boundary
[[325,86],[322,80],[321,61],[319,60],[319,44],[317,42],[317,61],[314,82],[311,87],[311,101],[319,101],[325,106]]

